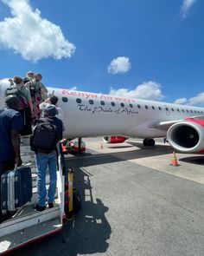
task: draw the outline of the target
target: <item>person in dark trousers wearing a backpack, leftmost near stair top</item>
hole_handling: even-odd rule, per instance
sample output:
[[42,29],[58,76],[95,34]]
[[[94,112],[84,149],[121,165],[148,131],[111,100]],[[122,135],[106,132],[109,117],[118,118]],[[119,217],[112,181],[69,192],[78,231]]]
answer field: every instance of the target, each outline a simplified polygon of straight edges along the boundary
[[[32,134],[31,118],[34,116],[34,108],[33,108],[31,95],[30,95],[29,89],[25,87],[25,85],[23,84],[21,77],[15,76],[13,81],[15,82],[14,87],[18,89],[21,96],[21,99],[20,99],[21,107],[19,109],[19,112],[22,115],[22,121],[23,121],[23,129],[21,131],[21,135],[31,135]],[[24,100],[24,103],[23,103],[23,100]]]

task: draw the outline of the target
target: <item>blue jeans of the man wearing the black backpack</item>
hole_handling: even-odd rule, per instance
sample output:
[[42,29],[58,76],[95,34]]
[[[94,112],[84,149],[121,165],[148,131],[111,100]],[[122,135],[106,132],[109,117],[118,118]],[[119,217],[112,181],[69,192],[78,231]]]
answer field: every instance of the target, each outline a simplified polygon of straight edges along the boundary
[[53,151],[49,154],[37,153],[35,154],[35,162],[37,167],[37,203],[40,207],[45,206],[46,201],[46,170],[49,170],[49,188],[48,188],[48,203],[54,201],[54,194],[56,190],[57,181],[57,156]]

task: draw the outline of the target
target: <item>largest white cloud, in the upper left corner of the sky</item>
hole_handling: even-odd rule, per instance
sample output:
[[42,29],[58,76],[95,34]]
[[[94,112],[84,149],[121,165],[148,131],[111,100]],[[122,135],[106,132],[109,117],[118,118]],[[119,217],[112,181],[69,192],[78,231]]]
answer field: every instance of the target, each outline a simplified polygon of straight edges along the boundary
[[0,22],[1,47],[13,49],[32,62],[49,56],[61,59],[73,55],[73,43],[65,39],[59,26],[42,18],[40,10],[32,10],[29,0],[2,2],[10,7],[12,16]]

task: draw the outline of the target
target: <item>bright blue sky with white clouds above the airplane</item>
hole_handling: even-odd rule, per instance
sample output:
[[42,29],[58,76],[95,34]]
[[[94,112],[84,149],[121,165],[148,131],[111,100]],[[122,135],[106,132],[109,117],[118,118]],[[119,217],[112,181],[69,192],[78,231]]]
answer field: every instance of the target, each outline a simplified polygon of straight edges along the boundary
[[0,0],[0,77],[204,106],[202,0]]

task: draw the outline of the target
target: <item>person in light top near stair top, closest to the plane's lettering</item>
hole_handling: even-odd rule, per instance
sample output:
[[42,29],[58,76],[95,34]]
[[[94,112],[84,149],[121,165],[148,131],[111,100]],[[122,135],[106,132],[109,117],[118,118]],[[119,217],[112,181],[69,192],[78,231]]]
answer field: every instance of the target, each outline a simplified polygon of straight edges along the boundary
[[39,119],[41,118],[41,109],[39,108],[39,105],[48,98],[48,89],[41,83],[41,74],[35,74],[34,79],[31,82],[27,82],[25,86],[29,88],[32,97],[35,113],[34,120]]

